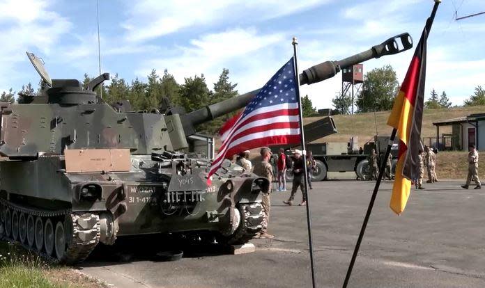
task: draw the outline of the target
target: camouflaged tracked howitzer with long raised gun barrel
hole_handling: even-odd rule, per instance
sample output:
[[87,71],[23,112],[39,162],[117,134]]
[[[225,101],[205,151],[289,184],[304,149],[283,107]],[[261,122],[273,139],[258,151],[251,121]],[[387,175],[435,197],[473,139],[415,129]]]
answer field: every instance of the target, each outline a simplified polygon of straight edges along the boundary
[[[410,36],[398,35],[311,67],[300,82],[316,83],[410,47]],[[83,88],[74,79],[51,79],[41,59],[27,55],[43,79],[41,95],[0,104],[4,237],[74,264],[99,242],[125,235],[203,232],[231,244],[261,230],[268,179],[226,161],[208,186],[210,160],[184,152],[195,125],[241,109],[258,90],[190,113],[167,102],[150,113],[129,111],[94,92],[108,74]]]

